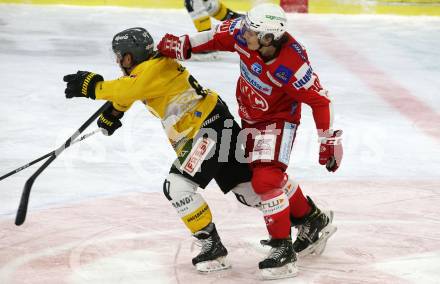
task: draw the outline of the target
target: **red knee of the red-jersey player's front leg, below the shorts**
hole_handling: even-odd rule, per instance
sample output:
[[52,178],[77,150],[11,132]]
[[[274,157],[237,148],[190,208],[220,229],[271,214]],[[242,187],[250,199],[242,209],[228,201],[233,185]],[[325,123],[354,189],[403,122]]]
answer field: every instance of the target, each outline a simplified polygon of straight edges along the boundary
[[252,187],[256,194],[262,195],[274,189],[280,189],[286,182],[286,176],[278,167],[256,167],[252,174]]

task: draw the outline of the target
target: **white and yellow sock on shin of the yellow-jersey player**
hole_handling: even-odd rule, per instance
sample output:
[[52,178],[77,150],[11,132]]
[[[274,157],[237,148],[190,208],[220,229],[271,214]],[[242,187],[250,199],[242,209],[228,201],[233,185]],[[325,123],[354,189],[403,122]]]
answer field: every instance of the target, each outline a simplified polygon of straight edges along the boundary
[[170,173],[163,184],[166,198],[192,233],[200,231],[212,221],[208,204],[196,191],[197,184],[178,174]]

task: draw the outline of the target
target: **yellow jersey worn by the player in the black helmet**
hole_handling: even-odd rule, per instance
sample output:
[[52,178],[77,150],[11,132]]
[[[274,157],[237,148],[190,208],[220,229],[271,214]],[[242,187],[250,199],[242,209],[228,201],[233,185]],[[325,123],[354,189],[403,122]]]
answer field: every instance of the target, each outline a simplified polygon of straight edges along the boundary
[[177,155],[214,109],[218,95],[203,89],[176,60],[156,58],[136,66],[130,76],[97,83],[96,99],[126,111],[137,100],[160,118]]

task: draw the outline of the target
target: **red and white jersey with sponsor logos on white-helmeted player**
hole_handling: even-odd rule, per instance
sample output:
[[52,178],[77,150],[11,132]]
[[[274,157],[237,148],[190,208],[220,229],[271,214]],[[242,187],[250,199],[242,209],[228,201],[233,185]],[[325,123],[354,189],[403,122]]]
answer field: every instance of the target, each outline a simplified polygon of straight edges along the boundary
[[279,55],[264,62],[247,48],[241,19],[225,21],[215,30],[190,37],[193,53],[211,50],[237,52],[240,78],[236,96],[239,113],[249,123],[284,120],[299,123],[301,103],[312,108],[318,130],[331,129],[331,101],[313,72],[305,49],[290,34]]

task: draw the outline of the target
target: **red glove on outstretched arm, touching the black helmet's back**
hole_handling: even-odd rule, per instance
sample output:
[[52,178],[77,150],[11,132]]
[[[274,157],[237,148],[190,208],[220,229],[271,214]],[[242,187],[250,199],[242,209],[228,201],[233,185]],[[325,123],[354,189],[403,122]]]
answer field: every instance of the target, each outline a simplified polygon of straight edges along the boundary
[[166,57],[176,58],[179,60],[189,59],[191,57],[191,43],[189,36],[175,36],[166,34],[157,45],[157,49]]

